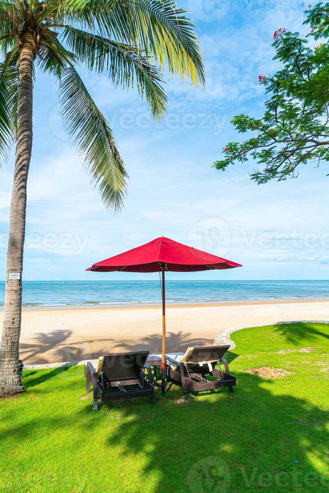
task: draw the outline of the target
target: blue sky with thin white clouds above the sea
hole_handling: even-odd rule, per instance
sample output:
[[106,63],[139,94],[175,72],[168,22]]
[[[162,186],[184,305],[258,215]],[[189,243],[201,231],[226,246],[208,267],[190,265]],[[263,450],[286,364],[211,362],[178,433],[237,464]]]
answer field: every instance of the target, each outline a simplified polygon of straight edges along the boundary
[[[243,264],[185,279],[329,279],[327,165],[258,186],[255,163],[211,168],[236,135],[230,119],[261,115],[258,75],[276,70],[273,32],[305,31],[300,0],[180,0],[198,27],[207,87],[168,80],[169,111],[154,124],[138,95],[106,75],[85,83],[112,124],[130,176],[122,213],[106,211],[58,118],[57,88],[38,77],[28,185],[24,279],[150,279],[87,273],[92,263],[166,235]],[[0,279],[5,279],[13,156],[0,179]],[[102,277],[101,277],[102,276]],[[171,275],[172,279],[182,274]]]

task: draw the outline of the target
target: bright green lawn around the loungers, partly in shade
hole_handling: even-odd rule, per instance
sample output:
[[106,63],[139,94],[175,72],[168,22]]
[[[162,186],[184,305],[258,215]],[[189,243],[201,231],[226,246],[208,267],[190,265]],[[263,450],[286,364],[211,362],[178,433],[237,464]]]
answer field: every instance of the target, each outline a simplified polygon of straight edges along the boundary
[[[232,339],[234,394],[188,402],[173,386],[164,397],[156,389],[155,405],[138,399],[94,413],[83,367],[25,371],[26,392],[0,402],[0,490],[327,490],[329,325],[248,328]],[[295,373],[267,380],[243,371],[261,366]]]

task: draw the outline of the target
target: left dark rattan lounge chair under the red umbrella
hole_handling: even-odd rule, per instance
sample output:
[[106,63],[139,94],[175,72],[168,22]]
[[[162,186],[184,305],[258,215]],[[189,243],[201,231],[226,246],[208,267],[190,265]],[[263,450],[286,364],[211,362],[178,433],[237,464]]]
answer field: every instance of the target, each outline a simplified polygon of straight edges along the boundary
[[[149,397],[154,403],[152,372],[146,364],[148,351],[112,353],[99,358],[97,369],[89,361],[85,366],[87,393],[93,385],[94,410],[98,401],[111,402],[135,397]],[[144,369],[148,374],[145,380]],[[128,387],[129,388],[125,388]]]

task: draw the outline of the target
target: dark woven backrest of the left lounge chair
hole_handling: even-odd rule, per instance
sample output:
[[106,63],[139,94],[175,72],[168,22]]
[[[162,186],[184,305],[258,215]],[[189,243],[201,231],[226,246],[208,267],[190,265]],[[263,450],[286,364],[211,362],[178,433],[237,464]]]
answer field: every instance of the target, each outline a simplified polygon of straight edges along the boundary
[[149,351],[111,353],[103,356],[101,372],[108,382],[135,380],[144,368]]

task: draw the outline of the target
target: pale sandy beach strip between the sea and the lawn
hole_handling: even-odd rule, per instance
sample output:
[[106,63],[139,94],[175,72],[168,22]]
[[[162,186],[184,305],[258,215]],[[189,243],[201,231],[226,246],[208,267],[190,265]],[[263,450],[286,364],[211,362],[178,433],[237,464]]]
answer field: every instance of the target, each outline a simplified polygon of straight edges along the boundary
[[[0,312],[0,326],[3,313]],[[329,301],[169,305],[167,351],[213,344],[227,329],[292,320],[329,320]],[[95,359],[130,349],[161,351],[161,308],[24,310],[20,357],[25,364]]]

